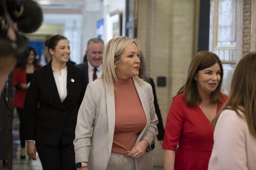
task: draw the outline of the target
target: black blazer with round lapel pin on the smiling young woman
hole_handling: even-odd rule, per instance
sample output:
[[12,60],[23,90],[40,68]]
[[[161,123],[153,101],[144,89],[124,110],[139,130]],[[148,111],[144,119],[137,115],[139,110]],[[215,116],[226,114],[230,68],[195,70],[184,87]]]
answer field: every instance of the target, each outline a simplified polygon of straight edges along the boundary
[[67,97],[63,102],[52,73],[52,62],[34,71],[25,102],[26,140],[53,146],[60,140],[62,144],[73,143],[86,83],[84,74],[74,65],[67,63],[67,70]]

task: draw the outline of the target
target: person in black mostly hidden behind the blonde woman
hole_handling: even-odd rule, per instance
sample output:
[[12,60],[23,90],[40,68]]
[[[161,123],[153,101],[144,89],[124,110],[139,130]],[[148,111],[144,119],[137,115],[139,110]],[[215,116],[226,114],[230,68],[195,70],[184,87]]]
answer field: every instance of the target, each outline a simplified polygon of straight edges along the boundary
[[[164,140],[164,125],[163,125],[163,121],[162,121],[162,115],[159,109],[159,105],[158,105],[158,101],[157,101],[157,97],[156,97],[156,87],[155,87],[155,83],[153,81],[153,79],[151,77],[148,77],[148,75],[146,74],[146,63],[145,63],[145,59],[144,56],[142,54],[142,52],[140,51],[140,69],[139,69],[139,77],[141,79],[143,79],[144,81],[146,81],[147,83],[150,83],[150,85],[152,86],[152,91],[153,91],[153,95],[154,95],[154,107],[156,110],[156,116],[158,118],[158,124],[157,124],[157,129],[158,129],[158,135],[156,136],[157,139],[159,140],[160,145],[162,146],[163,144],[163,140]],[[155,143],[153,143],[151,145],[151,149],[153,150],[155,148]],[[153,169],[153,153],[150,152],[150,162],[151,162],[151,169]]]

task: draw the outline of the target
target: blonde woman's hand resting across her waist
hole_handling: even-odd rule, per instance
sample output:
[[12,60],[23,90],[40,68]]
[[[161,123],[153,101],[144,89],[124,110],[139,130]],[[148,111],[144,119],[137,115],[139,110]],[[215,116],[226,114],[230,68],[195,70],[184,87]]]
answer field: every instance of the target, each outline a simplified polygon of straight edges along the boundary
[[146,148],[148,147],[148,141],[146,139],[140,140],[140,142],[136,143],[132,150],[127,151],[127,156],[131,156],[132,158],[136,159],[140,156],[144,155],[146,152]]

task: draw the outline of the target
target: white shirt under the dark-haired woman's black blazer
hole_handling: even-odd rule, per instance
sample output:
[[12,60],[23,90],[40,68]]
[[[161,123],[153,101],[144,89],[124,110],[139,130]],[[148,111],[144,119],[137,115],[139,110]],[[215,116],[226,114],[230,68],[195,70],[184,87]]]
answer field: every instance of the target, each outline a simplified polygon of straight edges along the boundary
[[58,89],[58,93],[60,96],[60,101],[63,102],[64,99],[67,97],[68,91],[67,91],[67,73],[68,69],[67,67],[62,69],[61,71],[55,70],[52,67],[52,73],[53,77]]

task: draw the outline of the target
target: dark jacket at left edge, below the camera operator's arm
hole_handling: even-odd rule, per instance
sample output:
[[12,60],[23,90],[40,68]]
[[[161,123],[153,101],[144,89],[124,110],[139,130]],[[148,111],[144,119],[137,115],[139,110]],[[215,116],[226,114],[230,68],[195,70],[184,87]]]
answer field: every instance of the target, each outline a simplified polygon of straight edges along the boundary
[[10,108],[4,96],[4,92],[0,95],[0,160],[6,159],[12,136],[12,117]]

